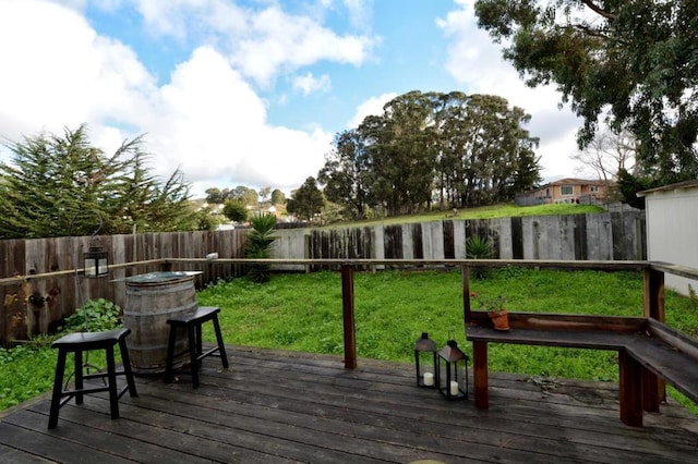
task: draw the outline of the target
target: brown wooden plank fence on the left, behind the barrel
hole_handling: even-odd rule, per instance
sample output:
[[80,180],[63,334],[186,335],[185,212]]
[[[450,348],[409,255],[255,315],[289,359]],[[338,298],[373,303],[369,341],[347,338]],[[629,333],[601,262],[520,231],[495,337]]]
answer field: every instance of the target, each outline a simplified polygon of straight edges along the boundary
[[[160,268],[166,258],[203,258],[216,252],[239,258],[244,231],[172,232],[98,237],[108,252],[108,278],[87,279],[83,252],[91,237],[0,241],[0,342],[52,332],[56,325],[86,300],[107,298],[123,307],[125,283],[112,282]],[[240,273],[239,265],[181,264],[179,270],[201,270],[196,285]]]

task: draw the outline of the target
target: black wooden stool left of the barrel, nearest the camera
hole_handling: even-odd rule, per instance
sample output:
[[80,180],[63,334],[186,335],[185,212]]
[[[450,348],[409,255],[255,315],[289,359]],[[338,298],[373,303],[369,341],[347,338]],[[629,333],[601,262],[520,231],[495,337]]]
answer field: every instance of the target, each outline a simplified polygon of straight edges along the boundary
[[[75,404],[83,403],[83,395],[86,393],[109,392],[109,404],[111,406],[111,418],[119,418],[119,399],[129,391],[131,396],[137,396],[135,382],[131,373],[129,350],[127,350],[125,338],[131,333],[131,329],[109,330],[105,332],[75,332],[56,340],[51,347],[58,349],[58,363],[56,365],[56,377],[53,379],[53,394],[51,396],[51,412],[48,417],[48,428],[58,425],[58,412],[73,396]],[[113,358],[113,346],[119,344],[123,369],[117,370]],[[105,350],[107,353],[107,371],[97,374],[83,374],[83,352],[93,350]],[[75,354],[75,389],[63,391],[63,375],[65,374],[65,357],[68,353]],[[127,386],[117,391],[117,376],[127,377]],[[85,379],[107,379],[106,387],[84,388]],[[63,398],[67,396],[67,398]]]

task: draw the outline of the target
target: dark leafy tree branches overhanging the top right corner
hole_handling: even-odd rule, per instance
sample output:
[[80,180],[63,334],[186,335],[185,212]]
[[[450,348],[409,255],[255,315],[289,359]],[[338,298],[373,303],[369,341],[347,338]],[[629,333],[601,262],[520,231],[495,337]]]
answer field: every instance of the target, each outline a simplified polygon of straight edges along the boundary
[[698,2],[478,0],[476,14],[528,85],[555,84],[583,118],[580,148],[605,120],[638,139],[646,175],[698,176]]

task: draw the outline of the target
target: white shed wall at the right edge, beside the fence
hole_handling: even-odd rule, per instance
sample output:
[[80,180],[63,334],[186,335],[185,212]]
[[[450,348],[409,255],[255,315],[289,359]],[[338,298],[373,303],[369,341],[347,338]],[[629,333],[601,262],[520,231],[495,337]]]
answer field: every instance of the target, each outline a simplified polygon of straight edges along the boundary
[[[647,258],[698,268],[698,180],[638,193],[645,197]],[[666,273],[665,284],[688,295],[696,282]]]

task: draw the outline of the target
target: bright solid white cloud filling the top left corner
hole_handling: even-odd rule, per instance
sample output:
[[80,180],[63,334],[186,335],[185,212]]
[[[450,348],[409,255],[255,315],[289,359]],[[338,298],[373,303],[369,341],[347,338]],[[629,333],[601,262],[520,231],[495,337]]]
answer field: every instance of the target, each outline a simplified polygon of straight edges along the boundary
[[12,70],[0,73],[2,136],[148,113],[155,81],[130,49],[48,2],[0,1],[0,57]]

